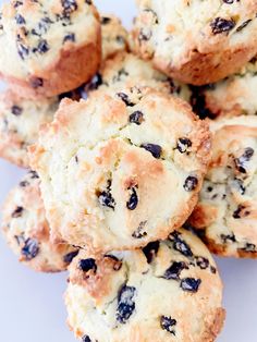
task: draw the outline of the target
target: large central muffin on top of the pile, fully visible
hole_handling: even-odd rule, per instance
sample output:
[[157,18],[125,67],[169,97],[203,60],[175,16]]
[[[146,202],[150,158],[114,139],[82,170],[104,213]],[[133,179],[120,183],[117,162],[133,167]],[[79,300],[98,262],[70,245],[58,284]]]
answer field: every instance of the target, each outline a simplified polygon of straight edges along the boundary
[[52,234],[101,252],[140,247],[183,224],[209,160],[208,124],[151,88],[64,99],[30,147]]

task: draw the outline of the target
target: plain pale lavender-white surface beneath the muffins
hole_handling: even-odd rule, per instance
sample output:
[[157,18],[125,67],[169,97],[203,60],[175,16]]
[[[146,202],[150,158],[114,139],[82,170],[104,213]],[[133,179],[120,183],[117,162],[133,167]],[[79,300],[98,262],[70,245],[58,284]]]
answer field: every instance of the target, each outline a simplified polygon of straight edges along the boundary
[[[101,11],[117,13],[130,25],[134,13],[133,0],[95,2]],[[0,203],[22,173],[0,161]],[[17,262],[2,239],[0,251],[0,342],[74,342],[65,326],[66,313],[62,302],[66,274],[33,272]],[[224,281],[224,307],[228,312],[225,327],[218,341],[256,342],[257,261],[218,259],[218,265]]]

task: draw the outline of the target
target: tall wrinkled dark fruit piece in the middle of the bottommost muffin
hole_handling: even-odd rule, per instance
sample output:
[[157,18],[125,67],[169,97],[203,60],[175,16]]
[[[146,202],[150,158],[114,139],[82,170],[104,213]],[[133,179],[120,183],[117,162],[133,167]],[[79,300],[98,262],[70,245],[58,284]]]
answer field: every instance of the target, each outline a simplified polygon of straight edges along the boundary
[[118,294],[117,320],[124,325],[135,310],[136,288],[123,285]]

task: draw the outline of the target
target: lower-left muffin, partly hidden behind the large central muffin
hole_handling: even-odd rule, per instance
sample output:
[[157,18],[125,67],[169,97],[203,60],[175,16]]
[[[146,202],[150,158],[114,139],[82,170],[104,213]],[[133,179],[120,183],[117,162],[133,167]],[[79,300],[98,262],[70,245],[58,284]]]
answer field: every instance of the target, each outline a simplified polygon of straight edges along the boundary
[[75,247],[51,243],[35,171],[29,171],[9,194],[2,212],[2,230],[20,261],[37,271],[65,270],[78,253]]

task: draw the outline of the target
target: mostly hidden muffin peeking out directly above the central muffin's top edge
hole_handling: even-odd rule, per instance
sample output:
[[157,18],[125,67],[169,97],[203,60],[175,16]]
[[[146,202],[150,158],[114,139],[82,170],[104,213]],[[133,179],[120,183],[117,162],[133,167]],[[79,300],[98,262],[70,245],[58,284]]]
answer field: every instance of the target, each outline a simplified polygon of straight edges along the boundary
[[124,87],[148,86],[189,101],[192,91],[181,82],[155,70],[150,62],[125,51],[106,60],[100,71],[86,84],[86,90],[101,88],[107,93]]

